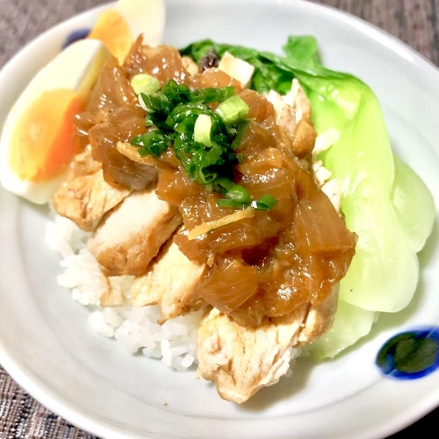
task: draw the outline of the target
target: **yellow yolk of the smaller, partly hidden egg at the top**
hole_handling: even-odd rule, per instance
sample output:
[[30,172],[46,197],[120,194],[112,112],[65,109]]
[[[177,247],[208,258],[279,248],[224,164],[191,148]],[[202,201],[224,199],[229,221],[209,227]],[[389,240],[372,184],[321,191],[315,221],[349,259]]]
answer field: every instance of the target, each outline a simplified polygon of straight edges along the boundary
[[130,26],[117,10],[111,8],[97,16],[95,27],[88,38],[102,41],[119,64],[123,63],[134,43]]

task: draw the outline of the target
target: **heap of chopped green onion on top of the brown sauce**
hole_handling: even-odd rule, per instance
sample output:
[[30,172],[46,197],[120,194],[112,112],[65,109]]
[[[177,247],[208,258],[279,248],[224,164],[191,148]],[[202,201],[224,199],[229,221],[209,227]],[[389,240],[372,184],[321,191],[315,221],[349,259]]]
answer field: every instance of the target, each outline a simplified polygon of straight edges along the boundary
[[[147,76],[134,77],[134,86]],[[172,146],[189,178],[222,193],[225,201],[219,204],[242,208],[250,205],[252,196],[230,176],[232,165],[244,158],[235,149],[248,126],[243,119],[249,108],[233,93],[234,87],[191,91],[175,80],[152,93],[141,91],[139,104],[147,112],[145,126],[154,130],[134,137],[131,143],[139,147],[141,156],[160,156]],[[212,110],[211,103],[219,104],[217,110]],[[265,204],[261,206],[265,209]]]

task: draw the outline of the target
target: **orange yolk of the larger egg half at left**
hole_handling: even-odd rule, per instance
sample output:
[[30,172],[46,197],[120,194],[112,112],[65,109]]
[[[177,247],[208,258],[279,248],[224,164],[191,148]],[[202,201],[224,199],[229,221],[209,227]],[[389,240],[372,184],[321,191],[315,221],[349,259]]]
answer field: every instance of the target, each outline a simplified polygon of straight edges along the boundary
[[12,134],[10,168],[21,180],[43,182],[62,174],[79,143],[73,115],[83,100],[73,90],[45,91],[23,113]]

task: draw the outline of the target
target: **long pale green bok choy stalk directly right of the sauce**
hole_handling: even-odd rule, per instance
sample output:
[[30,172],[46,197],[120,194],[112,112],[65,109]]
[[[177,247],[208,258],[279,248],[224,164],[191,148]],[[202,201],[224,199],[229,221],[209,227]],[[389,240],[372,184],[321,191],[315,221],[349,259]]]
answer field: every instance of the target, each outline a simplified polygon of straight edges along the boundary
[[[346,226],[358,235],[340,298],[370,311],[403,309],[418,282],[417,250],[393,204],[394,161],[377,98],[353,75],[313,60],[302,65],[295,58],[270,59],[292,69],[305,87],[318,132],[329,127],[340,131],[340,139],[321,157],[340,184]],[[406,189],[414,194],[413,188]],[[428,194],[426,187],[418,189]],[[423,198],[419,207],[432,224],[434,209],[429,195]]]

